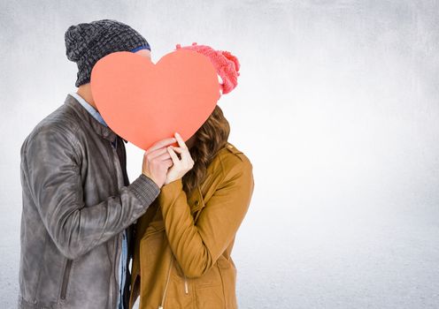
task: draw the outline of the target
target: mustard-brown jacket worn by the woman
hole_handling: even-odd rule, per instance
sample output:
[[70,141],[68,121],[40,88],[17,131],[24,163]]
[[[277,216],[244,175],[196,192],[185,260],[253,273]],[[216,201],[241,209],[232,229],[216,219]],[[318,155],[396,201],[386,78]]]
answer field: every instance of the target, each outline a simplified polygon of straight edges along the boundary
[[227,143],[189,195],[164,185],[137,222],[130,308],[237,308],[235,234],[253,193],[252,165]]

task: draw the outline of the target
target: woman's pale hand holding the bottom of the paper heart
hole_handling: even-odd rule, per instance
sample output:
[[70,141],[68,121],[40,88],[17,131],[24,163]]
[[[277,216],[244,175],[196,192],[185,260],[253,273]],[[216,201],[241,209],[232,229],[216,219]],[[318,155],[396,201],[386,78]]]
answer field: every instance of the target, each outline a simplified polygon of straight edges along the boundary
[[[194,166],[194,161],[189,154],[189,148],[186,146],[184,140],[181,139],[179,133],[175,133],[175,139],[177,139],[180,147],[166,147],[169,155],[171,155],[171,159],[173,160],[173,166],[167,171],[165,185],[172,183],[174,180],[180,179]],[[181,159],[179,159],[176,153],[181,156]]]

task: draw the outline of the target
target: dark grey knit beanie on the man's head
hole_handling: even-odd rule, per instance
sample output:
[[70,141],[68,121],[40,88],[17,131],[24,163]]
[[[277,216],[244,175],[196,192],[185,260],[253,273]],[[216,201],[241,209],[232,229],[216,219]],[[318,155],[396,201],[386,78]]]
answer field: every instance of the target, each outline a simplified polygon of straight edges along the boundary
[[90,82],[97,60],[116,51],[149,49],[150,44],[130,26],[111,19],[70,26],[65,32],[65,55],[78,64],[75,86]]

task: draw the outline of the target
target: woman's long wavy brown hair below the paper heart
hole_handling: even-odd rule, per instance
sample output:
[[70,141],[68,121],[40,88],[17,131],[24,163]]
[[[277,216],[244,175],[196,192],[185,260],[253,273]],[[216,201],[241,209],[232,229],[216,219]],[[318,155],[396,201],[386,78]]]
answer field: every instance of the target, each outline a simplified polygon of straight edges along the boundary
[[194,166],[182,178],[185,192],[192,192],[196,185],[200,185],[204,181],[207,167],[218,151],[227,144],[229,133],[230,125],[224,117],[222,109],[216,105],[211,116],[196,131],[194,145],[189,149]]

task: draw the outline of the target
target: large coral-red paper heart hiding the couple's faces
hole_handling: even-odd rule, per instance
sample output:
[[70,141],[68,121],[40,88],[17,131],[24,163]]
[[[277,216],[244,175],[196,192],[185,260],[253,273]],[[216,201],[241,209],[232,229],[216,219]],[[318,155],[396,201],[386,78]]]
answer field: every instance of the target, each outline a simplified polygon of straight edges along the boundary
[[219,81],[210,60],[195,51],[173,51],[158,64],[122,51],[95,64],[91,91],[112,131],[146,150],[174,132],[188,140],[215,108]]

